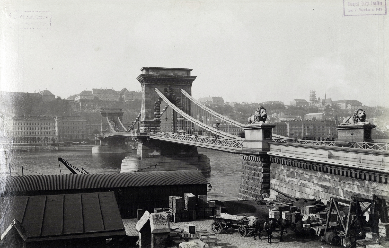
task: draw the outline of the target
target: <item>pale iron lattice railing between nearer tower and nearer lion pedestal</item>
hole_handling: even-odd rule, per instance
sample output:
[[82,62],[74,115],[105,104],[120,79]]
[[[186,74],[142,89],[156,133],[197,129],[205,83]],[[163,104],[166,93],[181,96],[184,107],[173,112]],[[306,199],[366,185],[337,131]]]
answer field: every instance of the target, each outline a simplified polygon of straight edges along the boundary
[[222,147],[232,147],[232,148],[242,148],[242,140],[228,140],[228,139],[219,139],[211,138],[206,136],[189,136],[189,135],[180,135],[180,134],[169,134],[169,133],[150,133],[150,137],[159,137],[159,138],[169,138],[174,140],[185,140],[196,143],[204,143],[208,145],[216,145]]

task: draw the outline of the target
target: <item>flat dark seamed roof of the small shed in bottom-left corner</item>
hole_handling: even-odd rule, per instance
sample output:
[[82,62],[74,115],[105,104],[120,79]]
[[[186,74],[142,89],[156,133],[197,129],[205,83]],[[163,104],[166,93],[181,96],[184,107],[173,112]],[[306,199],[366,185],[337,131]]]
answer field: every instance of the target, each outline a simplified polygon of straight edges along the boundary
[[0,197],[0,206],[8,206],[2,211],[0,232],[16,218],[27,241],[125,235],[112,191]]

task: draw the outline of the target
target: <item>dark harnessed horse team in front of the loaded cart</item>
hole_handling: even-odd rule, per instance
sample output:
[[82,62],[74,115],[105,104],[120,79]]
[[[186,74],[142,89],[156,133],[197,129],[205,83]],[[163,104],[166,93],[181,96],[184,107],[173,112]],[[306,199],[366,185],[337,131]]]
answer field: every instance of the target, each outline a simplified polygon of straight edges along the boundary
[[[278,220],[274,218],[268,218],[266,221],[263,220],[257,220],[255,223],[256,227],[256,233],[258,233],[258,238],[261,239],[261,232],[266,231],[268,235],[268,243],[272,243],[272,232],[276,227],[280,228],[280,242],[282,242],[282,234],[284,233],[284,229],[286,230],[287,227],[293,227],[292,222],[289,220],[285,220],[282,218],[279,218]],[[255,233],[254,233],[254,239],[255,239]],[[262,239],[261,239],[262,240]]]

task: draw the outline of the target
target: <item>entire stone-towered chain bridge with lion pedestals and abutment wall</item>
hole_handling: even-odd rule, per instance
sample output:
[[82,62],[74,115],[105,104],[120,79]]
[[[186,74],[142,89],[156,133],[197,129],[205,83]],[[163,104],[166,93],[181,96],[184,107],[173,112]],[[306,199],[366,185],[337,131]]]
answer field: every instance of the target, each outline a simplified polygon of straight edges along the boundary
[[[93,152],[128,152],[126,138],[138,143],[121,171],[211,170],[197,147],[239,154],[239,199],[262,198],[270,190],[304,198],[389,196],[389,144],[371,140],[371,124],[340,127],[343,140],[294,140],[272,134],[272,123],[242,124],[191,96],[191,69],[144,67],[142,108],[126,128],[121,109],[102,109],[100,145]],[[350,130],[355,133],[349,141]],[[340,133],[339,133],[340,134]],[[350,136],[350,135],[349,135]],[[344,138],[345,137],[345,138]],[[351,137],[350,137],[351,138]]]

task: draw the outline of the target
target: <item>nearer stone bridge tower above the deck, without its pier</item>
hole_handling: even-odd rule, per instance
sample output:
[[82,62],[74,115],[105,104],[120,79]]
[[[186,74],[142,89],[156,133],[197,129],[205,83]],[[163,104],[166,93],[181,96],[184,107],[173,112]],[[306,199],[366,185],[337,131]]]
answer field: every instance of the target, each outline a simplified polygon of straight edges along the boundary
[[[141,132],[146,132],[147,129],[159,131],[161,100],[157,96],[155,88],[158,88],[168,100],[181,110],[187,114],[191,113],[191,105],[182,104],[182,93],[180,92],[181,89],[184,89],[188,94],[192,94],[192,83],[196,76],[191,76],[191,70],[165,67],[142,67],[140,69],[142,73],[137,77],[137,80],[142,86],[142,110],[139,122]],[[174,132],[184,125],[180,123],[182,116],[175,111],[172,115],[172,129]]]

